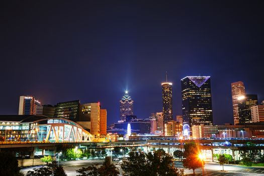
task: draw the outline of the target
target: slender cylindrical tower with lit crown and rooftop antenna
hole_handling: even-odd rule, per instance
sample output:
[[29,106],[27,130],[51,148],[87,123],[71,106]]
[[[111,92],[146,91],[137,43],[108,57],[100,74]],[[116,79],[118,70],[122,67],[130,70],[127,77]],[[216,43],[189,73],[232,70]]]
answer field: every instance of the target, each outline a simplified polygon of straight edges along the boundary
[[172,118],[172,83],[167,81],[161,83],[162,86],[162,111],[163,123],[170,122]]

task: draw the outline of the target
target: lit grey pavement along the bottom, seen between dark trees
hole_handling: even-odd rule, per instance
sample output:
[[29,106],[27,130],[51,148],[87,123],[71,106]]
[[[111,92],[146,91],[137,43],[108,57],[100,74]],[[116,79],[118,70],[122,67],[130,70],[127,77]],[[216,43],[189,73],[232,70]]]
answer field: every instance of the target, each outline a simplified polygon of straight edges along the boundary
[[[76,170],[81,167],[86,167],[87,165],[92,164],[100,164],[104,160],[103,159],[93,159],[93,160],[77,160],[77,161],[61,161],[60,165],[63,166],[65,172],[68,176],[75,176],[77,175]],[[118,167],[119,171],[120,162],[113,161],[114,164]],[[41,166],[34,166],[34,167],[26,167],[22,169],[22,172],[27,173],[27,171],[32,170],[35,167]],[[175,167],[183,168],[183,164],[180,161],[175,161]],[[206,163],[205,164],[205,175],[206,176],[264,176],[264,167],[244,167],[239,165],[224,165],[225,172],[220,171],[222,166],[217,163]],[[202,169],[196,169],[196,173],[202,173]],[[186,174],[193,173],[193,170],[185,169]]]

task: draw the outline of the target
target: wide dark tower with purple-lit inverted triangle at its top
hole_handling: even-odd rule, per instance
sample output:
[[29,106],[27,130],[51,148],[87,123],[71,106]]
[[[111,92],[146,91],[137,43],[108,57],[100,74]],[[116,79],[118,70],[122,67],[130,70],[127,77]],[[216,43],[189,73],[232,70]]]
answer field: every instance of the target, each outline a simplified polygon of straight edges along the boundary
[[192,125],[213,125],[210,76],[187,76],[181,81],[184,124],[190,129]]

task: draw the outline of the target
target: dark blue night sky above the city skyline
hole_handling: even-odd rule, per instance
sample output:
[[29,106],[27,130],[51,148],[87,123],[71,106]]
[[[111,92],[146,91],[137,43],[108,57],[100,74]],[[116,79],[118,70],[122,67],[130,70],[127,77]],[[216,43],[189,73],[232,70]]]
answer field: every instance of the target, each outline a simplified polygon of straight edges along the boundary
[[166,71],[173,116],[188,75],[211,76],[215,124],[233,123],[231,82],[264,100],[263,1],[5,1],[0,14],[3,115],[21,95],[100,101],[109,125],[127,89],[147,118],[162,111]]

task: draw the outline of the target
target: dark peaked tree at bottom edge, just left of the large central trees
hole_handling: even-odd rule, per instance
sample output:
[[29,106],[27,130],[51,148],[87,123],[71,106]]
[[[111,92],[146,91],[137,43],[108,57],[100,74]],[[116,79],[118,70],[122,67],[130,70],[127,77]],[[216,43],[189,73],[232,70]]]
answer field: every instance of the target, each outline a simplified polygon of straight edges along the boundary
[[96,166],[92,165],[88,167],[82,167],[76,170],[76,172],[80,173],[77,176],[117,176],[119,174],[119,171],[117,170],[116,166],[111,163],[109,157],[105,158],[105,161],[100,168],[97,168]]

